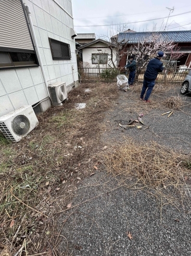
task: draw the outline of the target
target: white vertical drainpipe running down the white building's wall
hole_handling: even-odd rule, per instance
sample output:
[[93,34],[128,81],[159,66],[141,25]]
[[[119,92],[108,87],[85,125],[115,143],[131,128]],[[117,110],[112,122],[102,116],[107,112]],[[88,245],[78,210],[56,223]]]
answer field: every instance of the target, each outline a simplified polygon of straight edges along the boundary
[[39,63],[40,63],[40,66],[41,66],[41,70],[42,70],[42,73],[43,73],[44,83],[46,85],[46,91],[47,91],[48,97],[50,97],[49,91],[48,91],[48,83],[47,83],[46,75],[45,75],[45,71],[44,71],[44,66],[43,66],[43,62],[42,62],[42,59],[41,59],[39,46],[37,44],[36,35],[35,35],[35,32],[34,32],[34,26],[33,26],[33,23],[32,23],[31,10],[30,10],[30,7],[26,4],[24,4],[24,7],[27,11],[27,16],[28,16],[28,19],[29,19],[29,24],[30,24],[30,28],[31,28],[31,32],[32,32],[32,37],[33,37],[34,45],[35,45],[35,48],[36,48],[36,53],[37,53]]

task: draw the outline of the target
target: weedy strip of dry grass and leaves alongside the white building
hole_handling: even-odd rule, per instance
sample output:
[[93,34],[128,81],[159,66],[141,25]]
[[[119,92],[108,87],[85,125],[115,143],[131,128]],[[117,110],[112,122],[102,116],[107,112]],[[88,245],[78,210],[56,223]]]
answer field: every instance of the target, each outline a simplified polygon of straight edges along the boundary
[[[84,92],[86,87],[91,92]],[[116,84],[83,84],[62,107],[38,115],[39,126],[19,143],[0,137],[1,256],[5,248],[14,255],[23,245],[22,255],[65,253],[57,246],[56,212],[66,208],[79,180],[92,172],[101,120],[116,96]],[[86,108],[77,110],[74,103]]]

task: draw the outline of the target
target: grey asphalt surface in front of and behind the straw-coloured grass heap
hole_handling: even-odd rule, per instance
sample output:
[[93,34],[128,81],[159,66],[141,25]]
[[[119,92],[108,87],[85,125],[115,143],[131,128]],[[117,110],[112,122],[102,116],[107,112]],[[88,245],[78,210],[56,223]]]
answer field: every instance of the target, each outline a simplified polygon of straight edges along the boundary
[[[152,104],[140,102],[133,89],[126,93],[119,91],[116,107],[108,111],[104,120],[107,131],[101,139],[118,142],[129,136],[137,143],[156,141],[189,154],[191,97],[183,96],[186,106],[182,111],[174,111],[169,118],[161,116],[169,109],[158,104],[164,96],[177,95],[179,89],[165,95],[154,93]],[[137,118],[138,113],[144,113],[143,129],[119,127],[119,122],[126,124],[131,118]],[[181,204],[159,202],[146,190],[133,190],[131,184],[129,181],[122,187],[120,179],[108,177],[104,170],[79,183],[72,200],[72,205],[79,205],[60,218],[62,226],[63,220],[69,217],[61,231],[60,248],[66,255],[191,255],[190,212]],[[132,240],[127,232],[131,232]]]

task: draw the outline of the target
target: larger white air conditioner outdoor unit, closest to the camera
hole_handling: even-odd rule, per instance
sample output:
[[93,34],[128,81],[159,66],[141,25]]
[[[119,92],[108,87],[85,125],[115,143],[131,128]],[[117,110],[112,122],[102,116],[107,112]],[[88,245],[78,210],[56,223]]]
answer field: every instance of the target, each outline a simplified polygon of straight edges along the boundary
[[23,106],[0,117],[0,131],[13,142],[19,142],[38,124],[32,106]]

